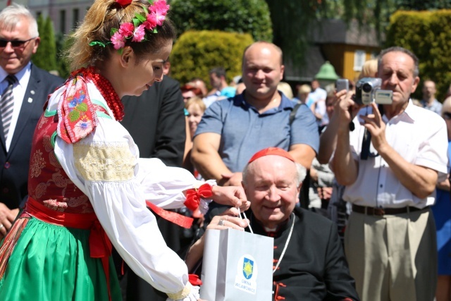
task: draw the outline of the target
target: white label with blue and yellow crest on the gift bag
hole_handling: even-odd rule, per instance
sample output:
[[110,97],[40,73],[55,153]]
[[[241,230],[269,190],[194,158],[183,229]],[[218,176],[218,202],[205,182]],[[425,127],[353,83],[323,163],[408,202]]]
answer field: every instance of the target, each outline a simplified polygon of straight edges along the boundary
[[238,260],[235,288],[255,295],[257,292],[257,262],[254,257],[245,254]]

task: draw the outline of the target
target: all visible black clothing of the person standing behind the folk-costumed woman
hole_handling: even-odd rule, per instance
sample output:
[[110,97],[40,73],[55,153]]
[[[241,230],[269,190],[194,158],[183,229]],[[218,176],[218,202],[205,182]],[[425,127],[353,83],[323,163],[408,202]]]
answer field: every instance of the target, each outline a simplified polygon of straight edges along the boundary
[[[122,125],[128,130],[140,149],[141,158],[159,158],[167,166],[182,166],[185,151],[185,113],[178,81],[165,76],[155,82],[140,97],[123,97],[125,116]],[[181,228],[156,216],[161,234],[168,247],[175,252],[182,247]],[[116,271],[122,261],[115,250]],[[119,273],[123,300],[165,301],[167,295],[152,288],[125,266],[125,276]]]

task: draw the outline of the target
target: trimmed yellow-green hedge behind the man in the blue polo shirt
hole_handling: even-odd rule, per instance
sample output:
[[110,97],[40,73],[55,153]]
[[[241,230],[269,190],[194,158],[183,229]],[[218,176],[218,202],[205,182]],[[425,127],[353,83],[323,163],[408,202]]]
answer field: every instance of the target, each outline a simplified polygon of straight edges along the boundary
[[241,75],[242,52],[252,42],[251,35],[237,32],[187,31],[173,47],[171,76],[181,83],[202,78],[209,85],[209,70],[223,67],[230,82]]

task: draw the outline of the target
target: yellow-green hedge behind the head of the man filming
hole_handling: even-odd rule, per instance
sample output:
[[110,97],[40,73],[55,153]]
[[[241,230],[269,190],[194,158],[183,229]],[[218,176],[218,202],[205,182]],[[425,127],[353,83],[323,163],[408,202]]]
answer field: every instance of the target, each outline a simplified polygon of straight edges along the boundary
[[397,11],[390,18],[385,46],[404,47],[418,56],[421,82],[414,97],[421,99],[422,83],[431,79],[435,97],[443,102],[451,84],[451,10]]

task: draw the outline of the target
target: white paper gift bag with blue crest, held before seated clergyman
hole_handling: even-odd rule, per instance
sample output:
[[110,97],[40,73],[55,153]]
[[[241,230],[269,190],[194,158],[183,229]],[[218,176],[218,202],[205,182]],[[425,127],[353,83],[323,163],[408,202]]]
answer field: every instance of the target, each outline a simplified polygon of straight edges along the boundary
[[205,235],[201,299],[271,301],[274,239],[231,228]]

